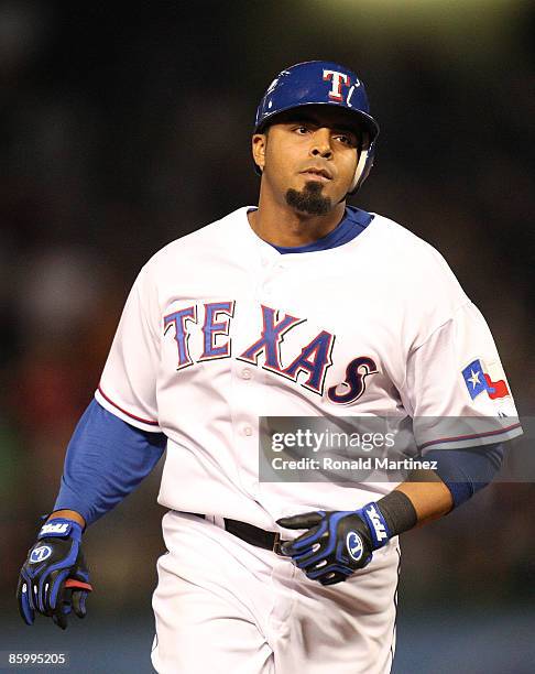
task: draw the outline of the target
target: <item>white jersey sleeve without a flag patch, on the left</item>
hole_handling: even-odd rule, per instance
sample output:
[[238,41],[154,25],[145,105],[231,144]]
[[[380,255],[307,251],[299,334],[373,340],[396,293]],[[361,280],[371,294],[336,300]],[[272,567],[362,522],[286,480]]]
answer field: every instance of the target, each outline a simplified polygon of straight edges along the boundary
[[127,298],[106,361],[97,401],[123,421],[160,432],[156,381],[160,363],[157,297],[146,267]]

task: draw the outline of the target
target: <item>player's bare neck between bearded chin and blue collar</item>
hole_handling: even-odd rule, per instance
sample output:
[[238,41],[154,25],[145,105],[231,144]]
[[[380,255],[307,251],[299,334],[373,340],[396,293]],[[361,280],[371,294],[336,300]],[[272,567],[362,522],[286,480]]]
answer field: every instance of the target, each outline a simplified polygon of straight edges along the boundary
[[276,204],[260,196],[258,210],[248,214],[249,224],[256,236],[281,247],[296,247],[323,239],[343,218],[346,203],[337,204],[326,215],[299,213],[286,204]]

